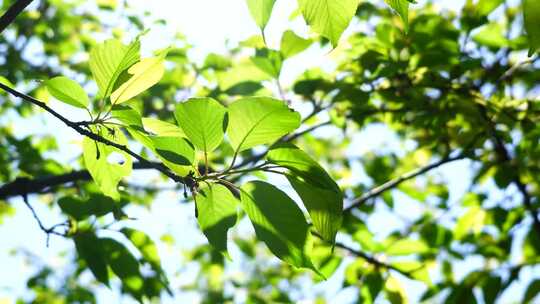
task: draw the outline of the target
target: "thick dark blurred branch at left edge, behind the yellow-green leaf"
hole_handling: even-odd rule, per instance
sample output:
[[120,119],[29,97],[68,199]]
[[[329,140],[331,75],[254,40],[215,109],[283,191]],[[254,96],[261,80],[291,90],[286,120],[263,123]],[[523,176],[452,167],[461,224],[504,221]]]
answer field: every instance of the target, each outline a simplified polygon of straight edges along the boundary
[[[133,164],[133,169],[154,169],[156,165],[159,165],[159,163],[152,163],[152,165],[149,165],[147,163],[136,162]],[[51,188],[67,183],[90,179],[91,176],[87,170],[73,171],[62,175],[45,176],[36,179],[17,178],[15,181],[0,187],[0,200],[6,200],[10,197],[20,195],[43,193]]]

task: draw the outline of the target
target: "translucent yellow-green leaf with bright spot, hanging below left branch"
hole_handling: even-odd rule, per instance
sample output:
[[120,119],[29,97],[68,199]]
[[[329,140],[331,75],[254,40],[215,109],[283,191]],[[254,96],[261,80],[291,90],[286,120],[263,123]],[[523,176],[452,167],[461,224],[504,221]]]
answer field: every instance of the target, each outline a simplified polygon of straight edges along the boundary
[[[95,129],[92,130],[95,132]],[[114,134],[109,130],[98,132],[98,134],[117,144],[127,145],[124,133],[116,127],[112,127],[112,130]],[[110,196],[114,200],[120,199],[117,189],[118,183],[122,178],[131,174],[131,156],[124,151],[94,142],[92,139],[85,137],[83,140],[83,158],[86,169],[88,169],[103,194]]]

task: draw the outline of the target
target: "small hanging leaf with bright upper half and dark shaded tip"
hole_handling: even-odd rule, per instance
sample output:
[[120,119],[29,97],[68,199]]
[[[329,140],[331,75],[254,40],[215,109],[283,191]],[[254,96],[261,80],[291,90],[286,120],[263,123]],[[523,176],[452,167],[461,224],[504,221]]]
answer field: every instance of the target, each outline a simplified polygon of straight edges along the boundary
[[227,187],[210,184],[195,197],[199,226],[216,250],[227,255],[227,231],[236,223],[238,200]]

